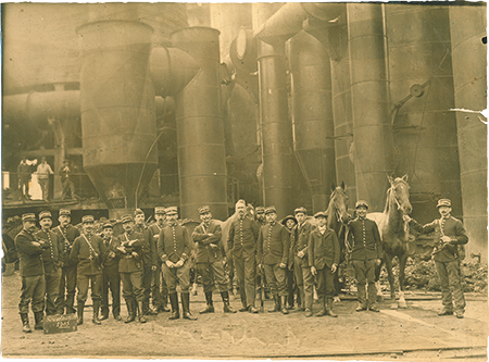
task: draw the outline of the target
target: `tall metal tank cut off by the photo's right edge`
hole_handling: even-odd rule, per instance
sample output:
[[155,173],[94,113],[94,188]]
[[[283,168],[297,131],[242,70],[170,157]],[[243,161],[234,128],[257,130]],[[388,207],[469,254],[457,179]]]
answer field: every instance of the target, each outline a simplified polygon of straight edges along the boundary
[[[486,109],[486,5],[450,9],[455,107]],[[468,234],[467,255],[480,253],[487,262],[487,125],[484,117],[456,112],[462,205]]]

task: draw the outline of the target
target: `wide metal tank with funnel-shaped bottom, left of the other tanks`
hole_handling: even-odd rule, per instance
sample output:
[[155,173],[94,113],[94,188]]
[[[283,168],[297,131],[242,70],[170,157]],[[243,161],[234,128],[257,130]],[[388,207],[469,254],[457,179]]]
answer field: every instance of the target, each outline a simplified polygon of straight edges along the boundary
[[158,167],[152,33],[131,21],[78,28],[84,168],[109,209],[137,207]]

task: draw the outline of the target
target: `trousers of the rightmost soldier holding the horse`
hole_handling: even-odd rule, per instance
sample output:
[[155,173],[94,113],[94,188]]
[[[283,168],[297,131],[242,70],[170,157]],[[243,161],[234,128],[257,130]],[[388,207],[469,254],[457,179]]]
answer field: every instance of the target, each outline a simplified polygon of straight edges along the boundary
[[441,284],[441,303],[447,311],[453,311],[453,302],[455,303],[455,311],[464,312],[465,298],[462,291],[460,280],[460,265],[459,261],[448,263],[435,262],[438,277]]

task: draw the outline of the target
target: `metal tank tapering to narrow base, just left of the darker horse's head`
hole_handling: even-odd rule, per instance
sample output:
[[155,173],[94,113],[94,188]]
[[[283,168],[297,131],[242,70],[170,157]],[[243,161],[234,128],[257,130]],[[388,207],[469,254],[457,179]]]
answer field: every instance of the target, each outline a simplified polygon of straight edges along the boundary
[[312,192],[313,213],[324,211],[336,182],[329,57],[312,35],[289,40],[294,152]]

